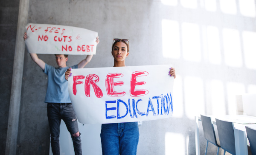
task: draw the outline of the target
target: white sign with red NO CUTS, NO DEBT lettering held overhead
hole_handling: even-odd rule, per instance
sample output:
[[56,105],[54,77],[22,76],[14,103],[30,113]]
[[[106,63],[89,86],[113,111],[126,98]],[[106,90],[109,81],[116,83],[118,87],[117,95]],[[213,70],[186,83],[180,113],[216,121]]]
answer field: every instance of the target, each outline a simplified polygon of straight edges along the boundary
[[26,25],[26,46],[36,54],[96,54],[97,32],[63,25]]

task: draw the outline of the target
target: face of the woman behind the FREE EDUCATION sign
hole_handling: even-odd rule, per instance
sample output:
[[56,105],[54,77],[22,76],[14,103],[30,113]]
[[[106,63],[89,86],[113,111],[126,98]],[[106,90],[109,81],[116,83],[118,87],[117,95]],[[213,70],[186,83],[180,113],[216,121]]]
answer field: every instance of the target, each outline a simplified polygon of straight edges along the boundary
[[123,42],[117,42],[112,51],[112,55],[117,62],[122,62],[129,55],[127,52],[127,46]]

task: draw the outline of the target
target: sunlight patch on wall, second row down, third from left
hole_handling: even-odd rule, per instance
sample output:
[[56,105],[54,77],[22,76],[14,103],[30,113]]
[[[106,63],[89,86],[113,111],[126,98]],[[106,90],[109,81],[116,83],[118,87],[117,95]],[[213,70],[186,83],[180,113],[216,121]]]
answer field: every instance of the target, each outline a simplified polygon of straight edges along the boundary
[[218,28],[207,26],[207,47],[209,62],[215,65],[221,64],[221,47]]

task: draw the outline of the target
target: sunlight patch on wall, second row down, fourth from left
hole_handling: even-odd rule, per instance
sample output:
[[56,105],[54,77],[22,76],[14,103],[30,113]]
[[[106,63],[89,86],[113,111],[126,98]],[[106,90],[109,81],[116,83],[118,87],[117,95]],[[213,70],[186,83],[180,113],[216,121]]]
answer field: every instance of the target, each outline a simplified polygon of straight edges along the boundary
[[239,31],[223,29],[223,46],[225,63],[232,67],[242,67],[242,53]]

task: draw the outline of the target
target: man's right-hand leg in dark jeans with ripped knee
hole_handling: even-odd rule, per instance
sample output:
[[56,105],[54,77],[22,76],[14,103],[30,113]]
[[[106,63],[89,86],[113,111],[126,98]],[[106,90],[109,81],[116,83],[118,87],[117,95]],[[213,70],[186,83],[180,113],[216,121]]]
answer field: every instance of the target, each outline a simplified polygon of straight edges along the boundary
[[67,126],[67,130],[71,134],[75,155],[81,155],[82,144],[81,144],[80,132],[78,129],[78,122],[76,119],[76,113],[71,103],[61,104],[61,106],[63,108],[63,112],[61,112],[61,116],[62,116],[61,118],[65,122]]

